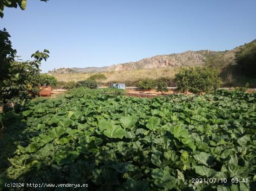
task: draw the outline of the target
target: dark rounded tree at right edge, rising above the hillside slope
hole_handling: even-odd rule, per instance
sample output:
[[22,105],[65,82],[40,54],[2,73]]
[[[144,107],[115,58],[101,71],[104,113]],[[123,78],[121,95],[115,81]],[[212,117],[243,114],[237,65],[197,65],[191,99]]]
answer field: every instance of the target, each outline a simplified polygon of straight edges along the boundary
[[243,74],[256,78],[256,40],[239,48],[236,63]]

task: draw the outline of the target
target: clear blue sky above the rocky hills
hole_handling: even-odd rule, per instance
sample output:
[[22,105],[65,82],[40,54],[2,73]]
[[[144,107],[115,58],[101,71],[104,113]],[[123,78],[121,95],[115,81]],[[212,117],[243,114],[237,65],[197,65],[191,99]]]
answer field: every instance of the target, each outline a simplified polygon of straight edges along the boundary
[[256,39],[256,0],[27,0],[0,28],[23,60],[50,51],[41,70],[101,67],[183,51],[225,51]]

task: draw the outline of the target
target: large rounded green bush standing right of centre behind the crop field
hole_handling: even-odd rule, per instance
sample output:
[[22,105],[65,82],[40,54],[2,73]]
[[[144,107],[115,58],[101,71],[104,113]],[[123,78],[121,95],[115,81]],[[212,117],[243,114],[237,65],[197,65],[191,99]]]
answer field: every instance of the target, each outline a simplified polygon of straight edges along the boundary
[[180,68],[175,74],[177,91],[194,94],[212,93],[221,85],[219,72],[212,68]]

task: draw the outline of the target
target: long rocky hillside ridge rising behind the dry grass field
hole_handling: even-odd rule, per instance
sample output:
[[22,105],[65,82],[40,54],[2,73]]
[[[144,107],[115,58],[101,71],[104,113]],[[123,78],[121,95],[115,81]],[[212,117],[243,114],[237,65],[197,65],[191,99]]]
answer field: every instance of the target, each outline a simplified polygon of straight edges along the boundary
[[[251,43],[256,43],[256,40]],[[231,51],[186,51],[182,53],[174,53],[168,55],[158,55],[154,57],[144,58],[137,62],[129,62],[124,64],[114,64],[106,67],[88,67],[88,68],[72,68],[78,73],[93,73],[104,71],[119,71],[119,70],[136,70],[136,69],[150,69],[150,68],[165,68],[173,66],[192,66],[202,65],[209,55],[222,55],[229,63],[234,62],[235,53],[242,46],[238,46]]]

